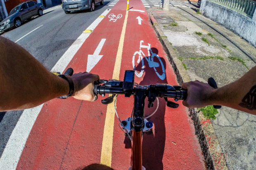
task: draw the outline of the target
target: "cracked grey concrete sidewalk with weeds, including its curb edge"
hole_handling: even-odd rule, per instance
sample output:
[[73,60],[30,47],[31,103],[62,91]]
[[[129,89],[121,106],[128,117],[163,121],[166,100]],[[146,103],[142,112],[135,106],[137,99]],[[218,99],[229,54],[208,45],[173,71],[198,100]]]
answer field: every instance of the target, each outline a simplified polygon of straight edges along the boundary
[[[213,77],[218,86],[224,86],[256,65],[253,46],[197,14],[197,2],[191,4],[194,7],[170,6],[166,12],[157,7],[147,10],[180,84]],[[190,113],[208,168],[254,170],[256,116],[228,107],[218,112],[214,120],[201,112]]]

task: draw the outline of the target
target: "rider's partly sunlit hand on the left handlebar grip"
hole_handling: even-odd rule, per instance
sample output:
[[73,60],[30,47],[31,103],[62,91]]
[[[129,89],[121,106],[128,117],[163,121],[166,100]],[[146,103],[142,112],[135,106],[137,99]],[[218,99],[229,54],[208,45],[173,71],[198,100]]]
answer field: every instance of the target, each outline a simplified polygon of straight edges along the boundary
[[94,101],[95,94],[93,93],[93,84],[99,80],[99,75],[94,75],[88,72],[79,72],[71,76],[73,80],[75,91],[73,98],[78,100]]

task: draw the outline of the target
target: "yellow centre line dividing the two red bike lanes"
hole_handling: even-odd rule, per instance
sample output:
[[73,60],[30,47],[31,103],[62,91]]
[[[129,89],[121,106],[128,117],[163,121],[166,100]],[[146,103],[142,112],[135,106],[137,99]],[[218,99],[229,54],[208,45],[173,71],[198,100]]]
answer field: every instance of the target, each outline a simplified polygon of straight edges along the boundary
[[[114,66],[112,79],[119,80],[127,18],[128,18],[128,11],[126,11],[126,16],[123,23],[123,28],[122,28],[121,37],[119,40],[119,46],[116,54],[116,62]],[[109,167],[111,167],[111,159],[112,159],[114,119],[115,119],[115,109],[114,109],[114,102],[112,102],[107,106],[107,113],[106,113],[103,140],[102,140],[101,157],[100,157],[100,163],[107,165]]]

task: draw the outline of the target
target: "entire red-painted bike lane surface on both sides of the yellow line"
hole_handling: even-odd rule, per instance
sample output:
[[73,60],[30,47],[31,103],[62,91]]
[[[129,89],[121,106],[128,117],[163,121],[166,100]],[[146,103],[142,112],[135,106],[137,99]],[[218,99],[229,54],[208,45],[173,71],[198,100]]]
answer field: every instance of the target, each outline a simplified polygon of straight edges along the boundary
[[[131,8],[132,7],[132,8]],[[120,79],[123,79],[125,70],[133,69],[133,54],[142,45],[151,44],[154,62],[159,63],[152,67],[152,62],[144,58],[144,73],[142,77],[135,76],[135,82],[144,84],[169,83],[178,85],[175,74],[168,58],[148,21],[148,14],[141,1],[130,1],[129,8],[140,9],[145,12],[129,11],[126,26],[123,55],[120,69]],[[109,14],[122,14],[116,21],[106,16],[86,39],[77,51],[69,67],[75,72],[87,69],[88,55],[95,53],[98,44],[106,39],[98,55],[103,55],[100,61],[90,72],[100,75],[101,79],[111,79],[119,47],[122,26],[126,15],[126,0],[120,0]],[[109,15],[108,14],[108,15]],[[137,16],[143,21],[138,24]],[[147,55],[147,49],[142,49]],[[138,73],[142,61],[135,55],[135,66]],[[136,58],[137,57],[137,58]],[[164,65],[166,78],[160,79]],[[107,95],[106,95],[107,97]],[[106,98],[104,97],[104,98]],[[31,130],[24,150],[21,154],[17,169],[76,169],[83,168],[91,163],[101,162],[102,138],[107,106],[102,105],[99,99],[95,102],[80,101],[73,98],[66,100],[54,99],[46,102]],[[147,103],[147,101],[146,101]],[[159,99],[159,109],[151,117],[154,123],[152,133],[143,136],[142,163],[146,169],[204,169],[203,156],[193,124],[189,122],[187,110],[178,102],[178,109],[166,107],[164,100]],[[117,99],[117,112],[121,120],[131,114],[133,98],[119,96]],[[156,108],[145,108],[149,115]],[[191,121],[192,122],[192,121]],[[114,120],[113,149],[111,167],[114,169],[128,169],[130,167],[130,141],[125,138],[118,126],[119,121]]]

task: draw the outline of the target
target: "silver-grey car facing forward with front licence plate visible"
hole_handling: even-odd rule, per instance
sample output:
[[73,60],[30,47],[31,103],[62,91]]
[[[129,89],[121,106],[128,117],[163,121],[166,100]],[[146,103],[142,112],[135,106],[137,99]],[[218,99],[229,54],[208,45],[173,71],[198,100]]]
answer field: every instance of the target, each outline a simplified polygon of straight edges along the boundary
[[100,3],[104,4],[104,0],[62,0],[62,9],[66,14],[70,14],[71,11],[79,11],[89,9],[94,11],[95,5]]

